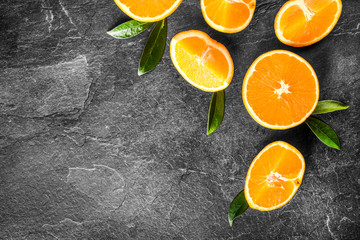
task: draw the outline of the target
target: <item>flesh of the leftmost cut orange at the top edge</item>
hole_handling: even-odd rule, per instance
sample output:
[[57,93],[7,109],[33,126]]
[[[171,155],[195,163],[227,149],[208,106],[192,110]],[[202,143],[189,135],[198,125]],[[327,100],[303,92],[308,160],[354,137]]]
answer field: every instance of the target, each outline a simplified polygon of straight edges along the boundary
[[176,0],[120,0],[129,11],[140,17],[157,17],[170,9]]

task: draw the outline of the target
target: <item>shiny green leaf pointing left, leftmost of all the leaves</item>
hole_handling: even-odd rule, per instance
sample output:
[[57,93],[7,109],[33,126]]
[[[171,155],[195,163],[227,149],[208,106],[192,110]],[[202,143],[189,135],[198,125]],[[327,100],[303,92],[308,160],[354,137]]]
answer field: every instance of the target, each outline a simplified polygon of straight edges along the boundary
[[153,24],[130,20],[108,31],[107,34],[119,39],[131,38],[150,28]]

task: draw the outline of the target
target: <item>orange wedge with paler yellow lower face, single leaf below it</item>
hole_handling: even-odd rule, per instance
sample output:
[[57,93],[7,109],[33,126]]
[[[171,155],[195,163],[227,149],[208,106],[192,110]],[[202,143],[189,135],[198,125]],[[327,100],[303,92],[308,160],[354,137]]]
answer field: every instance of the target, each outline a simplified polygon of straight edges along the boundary
[[229,51],[201,31],[185,31],[173,37],[170,56],[185,80],[206,92],[225,89],[234,74]]

